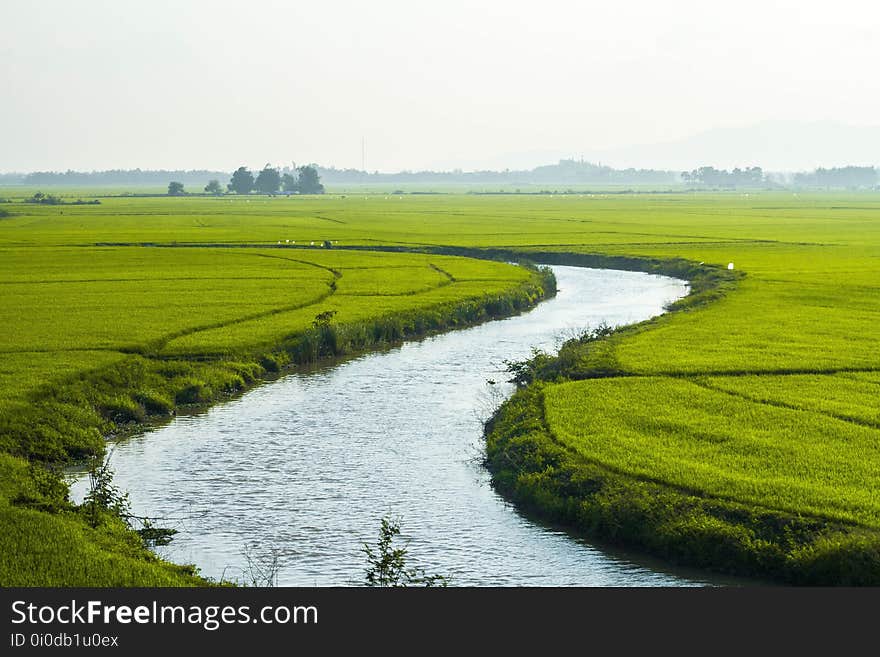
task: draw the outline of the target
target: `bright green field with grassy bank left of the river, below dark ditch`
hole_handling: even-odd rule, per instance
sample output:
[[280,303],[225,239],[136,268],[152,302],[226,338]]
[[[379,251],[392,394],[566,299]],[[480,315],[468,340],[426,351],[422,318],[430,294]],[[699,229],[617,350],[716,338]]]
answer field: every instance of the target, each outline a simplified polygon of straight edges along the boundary
[[54,469],[287,366],[507,316],[555,292],[540,273],[450,256],[32,241],[54,213],[23,209],[0,226],[4,586],[204,584],[113,513],[68,503]]

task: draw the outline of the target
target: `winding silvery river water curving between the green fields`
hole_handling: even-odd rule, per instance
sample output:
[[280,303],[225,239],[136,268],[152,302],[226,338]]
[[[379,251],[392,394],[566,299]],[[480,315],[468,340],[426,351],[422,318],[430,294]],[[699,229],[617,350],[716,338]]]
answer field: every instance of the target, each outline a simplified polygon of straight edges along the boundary
[[[528,313],[287,374],[120,441],[115,483],[135,513],[180,531],[160,554],[215,579],[247,581],[245,555],[274,552],[281,585],[359,584],[363,543],[394,516],[408,563],[451,585],[712,583],[536,523],[490,487],[481,420],[511,391],[504,359],[647,319],[687,293],[662,276],[553,270],[558,295]],[[84,490],[80,479],[73,497]]]

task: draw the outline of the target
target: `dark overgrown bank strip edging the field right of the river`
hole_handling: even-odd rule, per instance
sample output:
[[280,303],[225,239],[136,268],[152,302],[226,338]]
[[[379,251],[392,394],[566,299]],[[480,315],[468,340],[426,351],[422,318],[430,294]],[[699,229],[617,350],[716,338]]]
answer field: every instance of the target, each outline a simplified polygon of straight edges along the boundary
[[[484,465],[499,494],[540,520],[672,564],[796,585],[880,585],[880,536],[868,528],[701,496],[612,471],[560,442],[547,423],[547,385],[626,376],[603,361],[603,343],[725,296],[742,272],[681,259],[535,255],[552,264],[614,263],[619,269],[682,277],[690,282],[691,294],[671,304],[666,315],[569,340],[555,356],[519,364],[512,372],[517,391],[484,425]],[[590,351],[600,356],[589,356]]]

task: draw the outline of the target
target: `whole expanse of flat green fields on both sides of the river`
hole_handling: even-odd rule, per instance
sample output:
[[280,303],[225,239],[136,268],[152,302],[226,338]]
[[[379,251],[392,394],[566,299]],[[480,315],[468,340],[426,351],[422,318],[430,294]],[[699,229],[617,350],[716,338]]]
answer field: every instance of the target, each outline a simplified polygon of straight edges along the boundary
[[[54,461],[301,357],[292,341],[324,339],[321,312],[363,327],[436,308],[448,317],[464,299],[523,286],[523,303],[539,294],[524,270],[498,263],[345,247],[626,256],[670,273],[705,263],[718,272],[710,303],[571,345],[502,409],[488,443],[496,484],[548,517],[670,559],[880,581],[878,194],[346,193],[3,209],[0,445]],[[334,248],[317,248],[325,240]],[[743,276],[725,279],[728,262]],[[383,330],[397,339],[449,325],[434,316]],[[369,346],[363,333],[332,339],[343,351]],[[524,408],[540,426],[524,423]],[[495,458],[514,447],[531,456],[515,467]],[[27,479],[23,461],[10,463],[11,480]],[[10,506],[16,495],[4,527],[24,526],[23,513],[60,522],[35,503]],[[20,581],[15,555],[26,551],[14,543],[22,530],[10,531],[3,583]],[[98,544],[70,537],[72,553]],[[95,569],[95,582],[110,581]]]

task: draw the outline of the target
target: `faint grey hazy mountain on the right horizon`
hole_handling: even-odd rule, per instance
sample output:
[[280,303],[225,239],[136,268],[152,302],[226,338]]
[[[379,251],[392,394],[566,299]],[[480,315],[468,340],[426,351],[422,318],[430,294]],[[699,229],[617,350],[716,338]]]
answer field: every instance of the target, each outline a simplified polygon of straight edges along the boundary
[[833,121],[764,121],[715,128],[657,144],[592,151],[585,155],[613,167],[690,170],[761,166],[768,171],[880,164],[880,126]]

